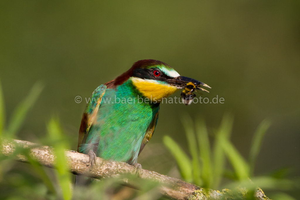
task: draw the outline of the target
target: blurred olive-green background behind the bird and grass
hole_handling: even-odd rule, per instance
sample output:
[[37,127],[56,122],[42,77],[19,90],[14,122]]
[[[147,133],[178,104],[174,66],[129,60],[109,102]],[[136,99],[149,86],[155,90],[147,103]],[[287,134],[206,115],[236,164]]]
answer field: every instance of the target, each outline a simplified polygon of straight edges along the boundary
[[[218,95],[225,101],[162,104],[155,134],[139,157],[143,168],[166,173],[176,166],[162,138],[169,135],[187,150],[180,122],[184,112],[202,116],[212,131],[230,112],[232,142],[244,157],[259,123],[265,118],[272,122],[256,175],[288,167],[289,177],[299,178],[299,9],[296,0],[1,1],[0,80],[6,115],[9,119],[41,81],[45,88],[18,138],[39,142],[54,114],[76,150],[84,98],[135,61],[157,59],[210,85],[203,97]],[[81,103],[75,102],[77,95],[83,97]]]

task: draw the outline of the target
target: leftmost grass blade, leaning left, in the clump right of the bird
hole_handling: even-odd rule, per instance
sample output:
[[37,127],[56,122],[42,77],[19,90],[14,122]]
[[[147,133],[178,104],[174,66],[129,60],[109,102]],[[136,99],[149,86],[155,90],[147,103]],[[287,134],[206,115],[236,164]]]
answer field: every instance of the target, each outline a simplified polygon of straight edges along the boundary
[[184,153],[182,148],[170,136],[164,136],[163,142],[175,158],[182,177],[186,181],[191,181],[192,163],[190,161],[190,158],[187,156],[186,153]]

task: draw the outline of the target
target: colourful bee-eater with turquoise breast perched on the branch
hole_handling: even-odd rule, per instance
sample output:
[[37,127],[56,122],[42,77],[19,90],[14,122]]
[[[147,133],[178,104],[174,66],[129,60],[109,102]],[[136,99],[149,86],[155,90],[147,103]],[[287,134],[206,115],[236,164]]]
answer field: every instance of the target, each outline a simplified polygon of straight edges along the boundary
[[210,88],[180,76],[164,62],[146,59],[98,86],[89,98],[79,128],[77,151],[89,155],[87,166],[92,169],[96,157],[101,157],[141,169],[137,157],[153,136],[161,100],[189,82],[198,88]]

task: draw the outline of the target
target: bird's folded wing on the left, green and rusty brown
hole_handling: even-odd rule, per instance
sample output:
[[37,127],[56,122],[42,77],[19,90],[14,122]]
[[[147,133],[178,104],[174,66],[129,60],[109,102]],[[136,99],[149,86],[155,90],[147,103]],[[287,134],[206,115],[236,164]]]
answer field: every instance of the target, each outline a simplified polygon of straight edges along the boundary
[[86,105],[79,128],[77,151],[79,151],[80,145],[85,143],[85,140],[88,136],[88,131],[97,116],[98,109],[106,88],[106,85],[100,85],[98,88],[96,88],[91,95],[88,104]]

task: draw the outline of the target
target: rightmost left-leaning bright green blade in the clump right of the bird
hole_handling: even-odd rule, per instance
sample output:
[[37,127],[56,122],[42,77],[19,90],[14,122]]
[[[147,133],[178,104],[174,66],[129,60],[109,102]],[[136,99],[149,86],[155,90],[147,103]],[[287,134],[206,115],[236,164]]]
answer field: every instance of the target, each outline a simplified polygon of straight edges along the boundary
[[238,179],[247,179],[249,177],[250,168],[241,154],[239,154],[237,149],[232,145],[231,142],[229,142],[229,140],[223,140],[221,145],[233,169],[235,170]]

